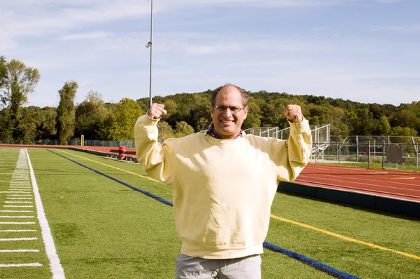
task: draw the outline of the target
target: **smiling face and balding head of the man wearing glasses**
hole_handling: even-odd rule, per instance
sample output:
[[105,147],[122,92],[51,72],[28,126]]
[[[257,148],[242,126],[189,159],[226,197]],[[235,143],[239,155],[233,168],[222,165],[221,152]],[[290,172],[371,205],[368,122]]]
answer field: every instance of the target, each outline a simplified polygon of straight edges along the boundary
[[[222,107],[244,107],[241,93],[237,88],[232,86],[223,88],[218,95],[216,95],[214,104]],[[216,107],[211,107],[210,111],[216,134],[223,140],[230,140],[239,135],[241,125],[246,118],[246,114],[248,114],[248,107],[244,107],[244,109],[241,109],[236,114],[232,113],[230,109],[221,111],[216,109]]]

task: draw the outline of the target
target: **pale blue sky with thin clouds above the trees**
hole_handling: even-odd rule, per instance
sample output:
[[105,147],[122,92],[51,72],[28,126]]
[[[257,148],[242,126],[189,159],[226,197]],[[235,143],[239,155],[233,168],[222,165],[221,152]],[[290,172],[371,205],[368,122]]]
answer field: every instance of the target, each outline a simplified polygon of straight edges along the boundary
[[[363,103],[420,101],[418,0],[154,0],[153,95],[235,83]],[[151,2],[0,0],[0,55],[106,102],[149,95]]]

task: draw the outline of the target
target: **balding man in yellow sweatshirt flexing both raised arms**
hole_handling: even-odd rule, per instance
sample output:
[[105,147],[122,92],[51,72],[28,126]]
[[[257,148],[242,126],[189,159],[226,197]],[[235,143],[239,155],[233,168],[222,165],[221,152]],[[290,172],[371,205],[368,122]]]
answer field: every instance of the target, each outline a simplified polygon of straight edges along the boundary
[[137,160],[173,189],[176,231],[182,240],[176,278],[261,278],[262,243],[281,180],[292,181],[309,160],[311,131],[297,105],[284,114],[288,141],[245,135],[248,94],[232,84],[211,96],[207,132],[158,142],[167,114],[153,104],[134,128]]

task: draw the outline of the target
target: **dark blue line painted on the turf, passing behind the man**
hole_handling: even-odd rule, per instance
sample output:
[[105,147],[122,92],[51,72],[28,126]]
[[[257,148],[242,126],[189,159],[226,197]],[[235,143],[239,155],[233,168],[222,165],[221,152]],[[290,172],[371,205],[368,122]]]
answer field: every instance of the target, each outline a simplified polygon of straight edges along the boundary
[[[95,170],[93,168],[90,168],[87,165],[83,165],[82,163],[78,163],[77,161],[74,161],[71,158],[67,158],[66,156],[63,156],[61,154],[57,154],[54,151],[51,151],[49,149],[47,149],[47,150],[50,151],[50,152],[52,152],[53,154],[56,154],[58,156],[61,156],[62,158],[66,158],[67,160],[72,161],[73,163],[76,163],[76,164],[82,166],[83,168],[87,168],[89,170],[92,170],[92,171],[98,173],[99,175],[104,175],[104,177],[108,177],[109,179],[112,179],[112,180],[114,180],[114,181],[116,181],[116,182],[118,182],[120,184],[123,184],[123,185],[125,185],[127,187],[130,187],[131,189],[133,189],[135,191],[139,191],[140,193],[144,193],[144,195],[149,196],[151,198],[154,198],[155,200],[158,200],[161,203],[165,203],[165,205],[173,206],[173,204],[169,200],[165,200],[165,198],[160,198],[160,196],[155,196],[155,195],[153,195],[153,193],[149,193],[148,191],[141,190],[141,189],[139,189],[137,187],[134,187],[134,186],[126,183],[126,182],[123,182],[120,179],[116,179],[115,177],[111,177],[111,175],[106,175],[106,173],[104,173],[104,172],[100,172],[99,170]],[[272,245],[271,243],[264,242],[263,245],[268,250],[271,250],[273,252],[284,254],[284,255],[292,258],[292,259],[296,259],[297,261],[302,262],[302,264],[306,264],[308,266],[311,266],[312,268],[315,268],[318,271],[325,272],[325,273],[327,273],[328,275],[331,275],[334,278],[339,278],[339,279],[359,279],[358,277],[356,277],[354,275],[351,275],[349,273],[345,273],[343,271],[338,271],[337,269],[332,268],[330,266],[327,266],[325,264],[322,264],[319,261],[315,261],[314,259],[305,257],[302,254],[297,254],[295,252],[291,252],[291,251],[286,250],[286,249],[283,249],[283,248],[281,248],[279,246]]]

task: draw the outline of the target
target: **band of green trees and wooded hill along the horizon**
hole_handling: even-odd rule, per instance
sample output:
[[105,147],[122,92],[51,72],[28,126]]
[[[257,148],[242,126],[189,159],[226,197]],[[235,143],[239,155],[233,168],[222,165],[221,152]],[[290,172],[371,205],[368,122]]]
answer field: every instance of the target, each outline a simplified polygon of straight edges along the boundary
[[[78,83],[66,81],[57,89],[59,106],[25,107],[41,75],[18,60],[0,57],[0,141],[32,143],[36,140],[133,140],[134,124],[146,113],[148,98],[104,102],[90,90],[75,104]],[[246,88],[245,88],[246,89]],[[420,133],[420,102],[411,104],[363,104],[314,95],[290,95],[266,91],[248,92],[248,117],[243,128],[287,128],[283,115],[287,104],[299,104],[311,125],[330,124],[330,135],[417,136]],[[206,130],[210,123],[211,90],[153,97],[165,104],[167,116],[158,123],[160,140],[183,137]]]

